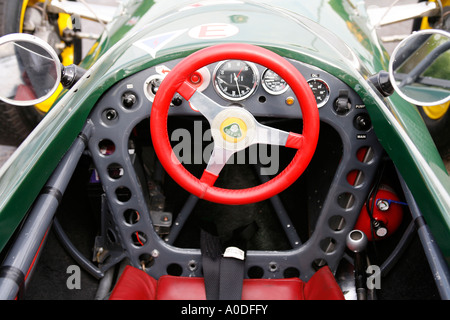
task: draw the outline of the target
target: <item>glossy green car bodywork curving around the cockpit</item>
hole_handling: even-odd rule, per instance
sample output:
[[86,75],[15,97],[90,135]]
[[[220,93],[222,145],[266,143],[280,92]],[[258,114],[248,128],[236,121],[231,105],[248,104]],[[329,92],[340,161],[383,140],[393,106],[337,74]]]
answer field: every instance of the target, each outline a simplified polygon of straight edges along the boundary
[[[0,169],[0,249],[31,208],[96,101],[138,71],[220,42],[244,42],[315,65],[340,78],[364,101],[383,147],[396,164],[450,257],[450,179],[416,108],[383,98],[367,81],[388,69],[388,54],[368,24],[364,1],[130,0],[82,62],[87,74],[66,92]],[[219,23],[238,32],[194,39],[192,28]],[[152,40],[155,50],[138,44]],[[169,39],[169,40],[167,40]],[[160,41],[160,42],[156,42]]]

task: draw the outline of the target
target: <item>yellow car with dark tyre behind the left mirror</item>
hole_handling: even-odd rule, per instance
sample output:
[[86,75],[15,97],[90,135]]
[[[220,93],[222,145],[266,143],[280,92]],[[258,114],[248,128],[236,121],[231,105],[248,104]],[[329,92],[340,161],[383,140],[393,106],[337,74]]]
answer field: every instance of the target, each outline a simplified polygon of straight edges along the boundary
[[[81,40],[67,32],[73,29],[70,15],[43,14],[45,5],[44,0],[0,0],[0,36],[16,32],[33,34],[55,49],[63,65],[78,64]],[[0,102],[0,144],[19,145],[48,112],[61,90],[62,86],[46,101],[30,107]]]

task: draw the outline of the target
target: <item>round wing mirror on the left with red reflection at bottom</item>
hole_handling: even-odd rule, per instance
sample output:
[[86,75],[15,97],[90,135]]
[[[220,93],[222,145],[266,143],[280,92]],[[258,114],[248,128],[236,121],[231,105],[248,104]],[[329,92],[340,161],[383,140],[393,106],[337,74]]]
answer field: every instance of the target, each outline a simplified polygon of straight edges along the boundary
[[45,41],[28,34],[0,38],[0,99],[34,105],[48,99],[61,80],[61,64]]

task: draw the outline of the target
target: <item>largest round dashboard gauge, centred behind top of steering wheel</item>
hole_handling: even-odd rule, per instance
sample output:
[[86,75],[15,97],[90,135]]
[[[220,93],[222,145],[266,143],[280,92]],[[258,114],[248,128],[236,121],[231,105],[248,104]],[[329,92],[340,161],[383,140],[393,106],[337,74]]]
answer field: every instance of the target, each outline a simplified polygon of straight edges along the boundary
[[258,69],[251,62],[227,60],[214,71],[214,88],[223,98],[240,101],[250,97],[258,86]]

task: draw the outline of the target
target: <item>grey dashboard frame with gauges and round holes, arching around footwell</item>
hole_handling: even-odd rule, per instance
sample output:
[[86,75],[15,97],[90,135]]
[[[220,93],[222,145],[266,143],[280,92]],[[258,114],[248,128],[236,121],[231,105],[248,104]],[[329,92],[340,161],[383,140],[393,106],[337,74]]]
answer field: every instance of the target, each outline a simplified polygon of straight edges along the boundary
[[[135,261],[136,265],[140,265],[145,257],[152,256],[151,250],[154,247],[149,247],[147,243],[158,243],[159,241],[159,239],[155,239],[155,242],[146,241],[148,237],[155,236],[153,233],[149,234],[147,230],[154,227],[151,221],[160,221],[160,217],[157,216],[160,214],[160,210],[157,203],[154,205],[159,211],[153,208],[152,203],[148,205],[150,191],[147,189],[152,185],[148,186],[145,179],[144,173],[147,166],[144,165],[144,168],[140,166],[141,162],[150,164],[155,161],[151,150],[149,151],[153,143],[149,130],[152,102],[161,81],[179,61],[165,62],[117,82],[99,99],[89,116],[89,120],[94,126],[89,140],[90,154],[99,180],[102,182],[102,188],[106,191],[106,197],[109,203],[114,204],[110,208],[112,211],[110,219],[118,219],[117,223],[109,223],[116,225],[117,229],[109,228],[108,232],[114,234],[112,237],[114,239],[124,239],[122,245],[126,247],[130,253],[130,259]],[[324,70],[294,60],[290,60],[290,62],[309,81],[311,90],[315,92],[321,121],[319,143],[308,166],[309,173],[306,173],[305,177],[303,175],[301,177],[307,180],[308,188],[296,194],[295,199],[298,201],[299,197],[304,194],[307,198],[304,200],[313,204],[309,213],[311,216],[310,230],[317,235],[317,239],[328,239],[328,242],[332,241],[332,244],[345,243],[346,233],[342,232],[341,226],[353,225],[356,222],[360,208],[369,193],[371,181],[375,177],[382,159],[382,147],[373,131],[369,114],[361,98],[352,88]],[[249,66],[247,63],[235,63],[234,66],[233,64],[227,66],[224,62],[218,62],[194,72],[189,81],[204,95],[222,106],[245,108],[262,124],[275,126],[288,123],[289,131],[301,133],[302,113],[297,98],[289,87],[284,87],[282,79],[277,78],[263,66],[254,65],[255,69],[251,71],[257,77],[251,79],[250,82],[248,79],[242,79],[242,81],[245,80],[247,86],[252,84],[252,90],[247,91],[247,88],[243,87],[243,92],[238,97],[237,88],[233,93],[231,86],[227,91],[225,91],[226,86],[222,86],[221,90],[227,92],[228,95],[218,93],[215,83],[218,84],[221,81],[217,80],[217,71],[221,72],[220,68],[223,66],[228,68],[228,70],[224,70],[222,80],[228,81],[230,84],[230,82],[236,81],[235,78],[239,71],[246,65]],[[239,66],[239,71],[236,73],[236,68]],[[229,67],[234,67],[236,70]],[[263,83],[265,84],[263,85]],[[200,155],[199,158],[202,158],[211,145],[211,141],[205,138],[202,131],[199,132],[200,135],[196,132],[195,124],[198,118],[202,118],[201,114],[188,101],[178,95],[174,96],[172,106],[169,108],[168,122],[173,124],[174,130],[181,128],[188,133],[193,133],[189,137],[192,136],[195,139],[198,136],[200,140],[203,139],[201,141],[203,145],[206,144],[206,148],[203,150],[203,145],[197,141],[194,142],[194,139],[186,140],[189,147],[193,146],[189,150],[195,151],[198,148],[200,151],[200,153],[191,153],[194,159],[189,164],[190,169],[200,168],[207,163],[203,162],[203,160],[207,161],[205,158],[199,159],[201,164],[195,165],[195,157]],[[200,121],[200,124],[203,122],[206,122],[206,119]],[[206,131],[206,127],[202,126],[201,130]],[[180,137],[174,137],[170,132],[168,132],[168,136],[171,142],[176,143],[176,147],[184,146],[185,141],[179,140]],[[280,152],[283,152],[280,160],[288,159],[291,156],[293,149],[280,149]],[[276,151],[274,150],[274,152]],[[183,164],[187,164],[187,162]],[[229,167],[235,168],[236,166]],[[242,169],[242,166],[237,167]],[[280,163],[279,169],[282,168],[283,165]],[[239,179],[225,180],[232,183]],[[253,181],[245,180],[244,182]],[[151,190],[151,192],[155,192],[153,187]],[[307,192],[309,193],[306,197]],[[178,200],[180,194],[168,193],[168,196]],[[139,222],[123,222],[124,217],[129,217],[131,209],[133,213],[139,213],[139,216],[142,217]],[[156,216],[144,219],[151,215]],[[317,219],[321,219],[321,223]],[[165,227],[165,225],[158,225],[158,228],[164,229]],[[181,228],[182,224],[175,223],[171,227],[171,232],[177,234]],[[131,239],[130,235],[133,235]],[[336,239],[336,242],[329,239]],[[111,250],[116,245],[116,243],[112,243]],[[314,259],[314,265],[321,265],[322,260],[316,256],[313,257],[309,250],[322,252],[326,255],[324,259],[326,258],[330,265],[337,264],[341,258],[340,255],[335,254],[337,250],[334,252],[324,250],[321,241],[308,242],[305,246],[308,249],[299,254],[296,251],[283,251],[282,255],[286,265],[295,265],[299,259],[304,261]],[[176,251],[175,253],[170,246],[160,246],[158,251],[160,252],[158,259],[161,262],[152,266],[154,276],[166,274],[166,266],[175,258],[182,260],[177,260],[181,265],[188,265],[190,261],[198,259],[196,253],[189,250],[182,252],[182,257],[180,257],[180,252]],[[277,254],[277,252],[274,253],[274,255]],[[267,261],[264,259],[264,257],[253,256],[251,264],[265,268]],[[308,275],[313,272],[310,269],[311,264],[305,266],[301,273]],[[188,268],[183,270],[188,270]],[[200,271],[191,270],[190,272],[183,271],[180,275],[192,276],[193,272],[200,276]],[[282,273],[279,273],[279,276],[282,276]]]

